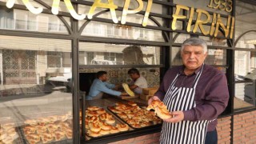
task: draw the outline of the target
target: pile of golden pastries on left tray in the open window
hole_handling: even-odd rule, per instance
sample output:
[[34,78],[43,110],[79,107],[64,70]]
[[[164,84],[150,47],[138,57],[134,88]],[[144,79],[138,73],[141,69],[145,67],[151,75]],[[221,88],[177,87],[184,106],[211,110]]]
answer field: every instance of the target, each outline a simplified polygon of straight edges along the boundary
[[[80,114],[81,115],[81,114]],[[129,126],[115,122],[113,116],[101,107],[89,106],[86,109],[86,134],[98,137],[129,130]]]

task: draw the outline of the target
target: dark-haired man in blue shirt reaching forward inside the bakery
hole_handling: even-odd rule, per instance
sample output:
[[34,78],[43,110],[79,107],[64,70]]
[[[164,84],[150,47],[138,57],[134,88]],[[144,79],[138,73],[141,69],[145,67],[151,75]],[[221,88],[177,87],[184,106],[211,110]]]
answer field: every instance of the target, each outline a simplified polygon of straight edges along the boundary
[[98,71],[94,82],[90,86],[90,92],[86,96],[86,100],[101,99],[103,94],[110,94],[115,96],[128,95],[126,92],[118,91],[121,85],[115,85],[110,82],[106,82],[106,71]]

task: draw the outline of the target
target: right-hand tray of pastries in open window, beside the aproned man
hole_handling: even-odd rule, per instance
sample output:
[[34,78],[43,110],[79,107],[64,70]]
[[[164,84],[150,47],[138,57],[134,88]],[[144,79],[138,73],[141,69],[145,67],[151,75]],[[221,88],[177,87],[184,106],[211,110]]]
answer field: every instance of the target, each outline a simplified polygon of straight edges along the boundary
[[162,123],[162,119],[158,118],[153,111],[138,106],[136,102],[116,102],[115,106],[108,106],[107,109],[134,129]]

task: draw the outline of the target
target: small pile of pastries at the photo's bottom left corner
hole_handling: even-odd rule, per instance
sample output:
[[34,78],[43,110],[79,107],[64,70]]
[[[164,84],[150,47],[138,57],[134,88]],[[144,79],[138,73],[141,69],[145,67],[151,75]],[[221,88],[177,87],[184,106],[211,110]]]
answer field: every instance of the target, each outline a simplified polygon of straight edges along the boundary
[[14,123],[0,123],[0,143],[13,143],[16,138],[18,133]]

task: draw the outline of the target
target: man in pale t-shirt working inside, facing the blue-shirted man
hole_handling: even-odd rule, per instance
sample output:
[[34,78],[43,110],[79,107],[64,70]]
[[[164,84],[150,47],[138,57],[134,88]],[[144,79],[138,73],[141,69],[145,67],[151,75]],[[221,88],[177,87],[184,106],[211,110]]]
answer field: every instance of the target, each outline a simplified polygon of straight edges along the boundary
[[130,82],[130,90],[133,90],[135,94],[142,94],[142,88],[147,88],[146,78],[139,74],[139,71],[135,68],[128,70],[132,82]]

